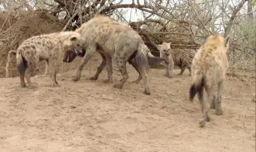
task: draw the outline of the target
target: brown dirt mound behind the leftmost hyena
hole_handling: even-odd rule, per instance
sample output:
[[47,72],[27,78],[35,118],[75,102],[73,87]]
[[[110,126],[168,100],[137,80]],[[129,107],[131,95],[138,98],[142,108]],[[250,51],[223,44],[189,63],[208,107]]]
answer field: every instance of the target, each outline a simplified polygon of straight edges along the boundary
[[[16,50],[18,46],[27,38],[38,34],[48,34],[62,30],[62,23],[51,16],[46,11],[14,11],[0,12],[0,78],[5,76],[5,66],[7,53]],[[16,76],[16,60],[12,58],[10,76]],[[38,69],[42,69],[44,64]],[[39,70],[42,73],[43,70]]]

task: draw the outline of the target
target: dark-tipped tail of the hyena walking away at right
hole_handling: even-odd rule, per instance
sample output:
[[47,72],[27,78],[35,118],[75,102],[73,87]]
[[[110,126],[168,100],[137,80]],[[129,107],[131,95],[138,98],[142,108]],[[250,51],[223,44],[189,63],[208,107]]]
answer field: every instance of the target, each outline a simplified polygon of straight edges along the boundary
[[197,94],[200,90],[203,90],[204,83],[202,70],[194,71],[194,77],[190,86],[190,102],[193,102],[195,94]]

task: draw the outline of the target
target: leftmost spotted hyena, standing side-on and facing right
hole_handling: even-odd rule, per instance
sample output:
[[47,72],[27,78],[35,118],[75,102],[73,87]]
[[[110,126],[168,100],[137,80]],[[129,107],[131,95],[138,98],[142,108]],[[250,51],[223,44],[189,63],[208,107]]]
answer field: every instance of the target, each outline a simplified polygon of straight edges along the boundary
[[25,87],[25,79],[30,88],[34,88],[30,81],[31,73],[34,71],[38,62],[46,62],[46,74],[50,73],[52,86],[59,86],[56,80],[58,65],[62,61],[68,60],[66,54],[70,51],[82,50],[81,35],[77,32],[66,31],[52,34],[42,34],[26,39],[18,50],[11,50],[8,54],[7,64],[10,63],[10,54],[16,54],[17,68],[20,74],[21,86]]

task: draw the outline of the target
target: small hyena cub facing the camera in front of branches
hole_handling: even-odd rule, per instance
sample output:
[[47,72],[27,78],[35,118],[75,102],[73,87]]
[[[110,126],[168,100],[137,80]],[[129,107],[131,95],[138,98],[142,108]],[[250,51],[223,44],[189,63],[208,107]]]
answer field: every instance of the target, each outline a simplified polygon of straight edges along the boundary
[[173,78],[174,65],[178,66],[181,69],[178,75],[182,75],[186,68],[190,70],[191,75],[191,63],[195,54],[194,50],[170,50],[170,42],[163,42],[162,45],[157,45],[157,48],[160,52],[160,58],[165,59],[165,63],[167,65],[166,76],[168,78]]

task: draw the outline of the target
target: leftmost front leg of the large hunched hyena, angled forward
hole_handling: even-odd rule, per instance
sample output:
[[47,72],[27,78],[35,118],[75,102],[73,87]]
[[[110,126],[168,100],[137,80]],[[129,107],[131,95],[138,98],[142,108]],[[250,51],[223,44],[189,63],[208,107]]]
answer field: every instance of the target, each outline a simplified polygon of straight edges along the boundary
[[82,72],[82,68],[83,66],[86,65],[87,62],[89,62],[90,58],[92,58],[92,56],[94,55],[94,53],[96,52],[96,45],[95,44],[90,44],[90,46],[88,46],[88,48],[86,48],[86,54],[82,59],[82,62],[80,63],[80,65],[78,66],[78,70],[76,75],[73,78],[74,82],[77,82],[78,80],[80,80],[81,78],[81,72]]

